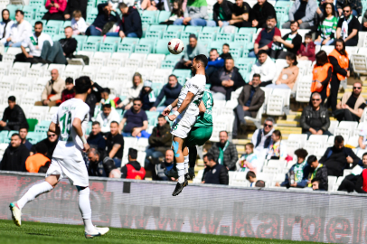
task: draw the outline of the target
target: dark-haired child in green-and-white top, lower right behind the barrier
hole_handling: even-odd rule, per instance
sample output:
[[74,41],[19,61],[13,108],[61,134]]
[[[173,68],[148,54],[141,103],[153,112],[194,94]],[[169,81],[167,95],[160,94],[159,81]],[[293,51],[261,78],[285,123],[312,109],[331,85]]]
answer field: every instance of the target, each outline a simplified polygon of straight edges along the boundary
[[282,183],[276,183],[276,186],[283,187],[297,187],[305,188],[308,183],[308,174],[310,167],[307,164],[306,157],[308,155],[307,151],[303,148],[297,149],[295,151],[296,164],[290,167],[288,173],[286,174],[286,179]]

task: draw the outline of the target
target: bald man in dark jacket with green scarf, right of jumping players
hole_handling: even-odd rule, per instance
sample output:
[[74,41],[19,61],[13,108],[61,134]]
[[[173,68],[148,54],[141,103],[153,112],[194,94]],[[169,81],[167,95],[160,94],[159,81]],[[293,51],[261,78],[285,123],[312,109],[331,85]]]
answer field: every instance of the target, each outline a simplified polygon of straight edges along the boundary
[[209,149],[208,154],[213,156],[213,160],[218,162],[218,164],[223,164],[226,166],[227,170],[236,170],[236,163],[239,159],[237,153],[236,145],[228,140],[227,131],[221,131],[219,133],[219,143],[214,143]]

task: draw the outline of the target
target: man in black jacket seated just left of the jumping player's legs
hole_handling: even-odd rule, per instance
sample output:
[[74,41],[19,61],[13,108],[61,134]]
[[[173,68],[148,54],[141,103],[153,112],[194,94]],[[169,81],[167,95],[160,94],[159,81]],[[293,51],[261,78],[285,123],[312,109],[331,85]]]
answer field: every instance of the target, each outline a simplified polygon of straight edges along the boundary
[[146,149],[146,169],[150,163],[157,164],[158,158],[165,155],[171,148],[172,135],[170,124],[162,114],[158,116],[158,123],[149,136],[149,148]]

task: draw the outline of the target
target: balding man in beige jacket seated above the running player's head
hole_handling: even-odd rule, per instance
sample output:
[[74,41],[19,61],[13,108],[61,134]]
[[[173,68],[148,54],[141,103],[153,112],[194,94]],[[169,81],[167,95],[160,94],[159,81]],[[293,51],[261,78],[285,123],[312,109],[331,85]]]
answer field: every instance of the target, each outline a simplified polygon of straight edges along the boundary
[[56,106],[61,103],[61,93],[65,89],[65,80],[59,75],[59,70],[51,70],[51,80],[44,87],[41,101],[36,101],[35,106]]

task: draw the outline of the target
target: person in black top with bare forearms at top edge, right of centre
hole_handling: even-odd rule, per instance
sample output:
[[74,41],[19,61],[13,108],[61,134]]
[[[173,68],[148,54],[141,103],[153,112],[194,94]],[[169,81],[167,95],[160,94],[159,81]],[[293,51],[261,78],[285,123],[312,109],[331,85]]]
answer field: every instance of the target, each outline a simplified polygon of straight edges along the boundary
[[232,19],[230,23],[237,27],[252,27],[250,18],[251,7],[243,0],[236,0],[233,6]]

